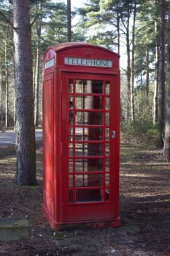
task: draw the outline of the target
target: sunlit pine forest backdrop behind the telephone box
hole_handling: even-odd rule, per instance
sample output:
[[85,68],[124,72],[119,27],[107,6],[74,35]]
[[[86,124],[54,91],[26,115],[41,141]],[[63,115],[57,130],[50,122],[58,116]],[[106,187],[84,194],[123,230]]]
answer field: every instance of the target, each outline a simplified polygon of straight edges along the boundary
[[[0,0],[0,26],[0,123],[15,127],[13,1]],[[121,56],[123,45],[122,132],[154,138],[170,161],[169,1],[87,0],[71,11],[71,0],[34,0],[30,1],[30,27],[36,127],[42,125],[42,56],[47,46],[90,42]]]

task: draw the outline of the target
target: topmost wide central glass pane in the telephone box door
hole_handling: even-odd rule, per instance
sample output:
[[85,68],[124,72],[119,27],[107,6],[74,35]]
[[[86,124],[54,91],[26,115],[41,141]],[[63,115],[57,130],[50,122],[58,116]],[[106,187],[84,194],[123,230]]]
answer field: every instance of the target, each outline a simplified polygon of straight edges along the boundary
[[103,94],[103,81],[77,79],[75,92],[86,94]]

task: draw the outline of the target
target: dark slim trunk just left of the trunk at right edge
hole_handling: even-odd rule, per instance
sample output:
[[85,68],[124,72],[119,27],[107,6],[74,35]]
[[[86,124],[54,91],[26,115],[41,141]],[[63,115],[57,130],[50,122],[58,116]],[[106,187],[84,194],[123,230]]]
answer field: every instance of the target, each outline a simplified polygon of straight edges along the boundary
[[159,58],[159,109],[157,146],[163,147],[165,124],[165,0],[161,0],[160,58]]

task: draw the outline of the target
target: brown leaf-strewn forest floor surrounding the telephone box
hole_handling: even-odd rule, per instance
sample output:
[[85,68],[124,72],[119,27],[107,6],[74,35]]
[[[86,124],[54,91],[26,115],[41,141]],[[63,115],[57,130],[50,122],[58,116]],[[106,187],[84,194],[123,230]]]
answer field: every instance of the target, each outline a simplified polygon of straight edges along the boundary
[[100,230],[52,230],[41,210],[42,150],[37,151],[36,187],[15,185],[12,152],[0,148],[0,217],[27,218],[30,238],[0,241],[0,256],[170,255],[170,166],[151,143],[122,141],[122,225]]

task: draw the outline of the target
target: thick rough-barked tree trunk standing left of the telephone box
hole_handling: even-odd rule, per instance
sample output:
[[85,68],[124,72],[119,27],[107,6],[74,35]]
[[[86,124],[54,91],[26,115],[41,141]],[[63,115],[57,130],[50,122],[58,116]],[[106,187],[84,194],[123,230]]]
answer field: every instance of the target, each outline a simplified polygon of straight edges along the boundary
[[29,0],[13,0],[17,185],[36,185]]

